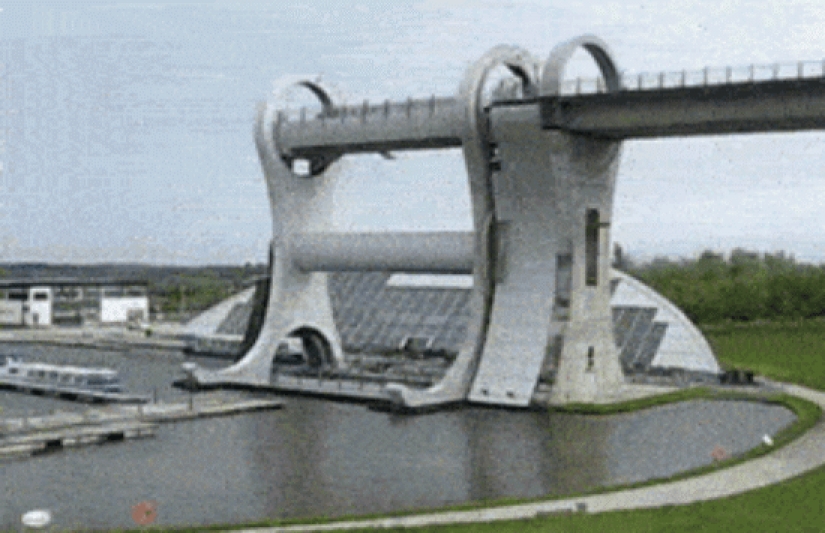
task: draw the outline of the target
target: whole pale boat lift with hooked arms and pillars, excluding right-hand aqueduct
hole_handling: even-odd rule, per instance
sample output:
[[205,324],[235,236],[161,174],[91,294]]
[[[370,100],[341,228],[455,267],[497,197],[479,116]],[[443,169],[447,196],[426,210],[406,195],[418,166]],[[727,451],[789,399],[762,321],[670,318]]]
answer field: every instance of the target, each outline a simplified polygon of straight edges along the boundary
[[[386,383],[387,399],[411,409],[462,401],[527,406],[553,352],[553,402],[617,398],[625,378],[610,303],[618,274],[609,252],[621,140],[545,129],[539,105],[561,94],[565,65],[580,48],[598,65],[605,90],[618,91],[607,46],[583,36],[557,46],[543,63],[520,48],[495,47],[469,67],[454,97],[341,106],[318,83],[300,81],[320,101],[317,115],[302,110],[288,117],[276,104],[262,106],[255,140],[273,222],[265,318],[238,362],[218,371],[190,366],[188,379],[199,386],[266,386],[276,347],[295,337],[311,348],[313,364],[346,366],[329,272],[466,273],[472,274],[469,319],[454,362],[427,388]],[[500,67],[514,83],[490,104],[485,82]],[[331,231],[337,159],[456,147],[466,163],[471,233]],[[670,339],[680,345],[676,352],[704,352],[718,370],[678,309],[621,279],[671,317],[673,332],[682,331],[681,339]]]

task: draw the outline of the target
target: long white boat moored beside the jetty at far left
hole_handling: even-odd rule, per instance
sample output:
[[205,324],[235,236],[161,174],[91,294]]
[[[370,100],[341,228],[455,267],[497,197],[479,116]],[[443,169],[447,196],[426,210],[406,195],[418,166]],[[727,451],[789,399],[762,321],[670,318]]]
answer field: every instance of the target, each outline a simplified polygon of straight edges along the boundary
[[53,390],[123,392],[117,371],[47,363],[24,363],[15,355],[0,355],[0,380]]

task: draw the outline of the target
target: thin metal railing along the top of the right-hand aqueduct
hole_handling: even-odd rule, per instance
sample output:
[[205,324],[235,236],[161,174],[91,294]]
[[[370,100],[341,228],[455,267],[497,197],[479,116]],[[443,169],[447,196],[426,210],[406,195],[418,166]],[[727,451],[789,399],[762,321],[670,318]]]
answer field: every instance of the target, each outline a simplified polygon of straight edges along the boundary
[[[656,91],[682,87],[709,87],[737,83],[825,78],[825,60],[773,63],[740,67],[705,67],[676,72],[640,72],[621,75],[622,91]],[[576,78],[562,84],[562,96],[607,92],[604,79]]]

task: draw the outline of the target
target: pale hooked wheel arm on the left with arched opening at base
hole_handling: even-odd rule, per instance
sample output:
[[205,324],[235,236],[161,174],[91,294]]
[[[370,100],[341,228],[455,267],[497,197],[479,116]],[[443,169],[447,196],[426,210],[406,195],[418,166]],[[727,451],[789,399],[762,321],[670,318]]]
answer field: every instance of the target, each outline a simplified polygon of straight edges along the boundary
[[[330,111],[331,99],[320,86],[309,81],[299,85],[319,96],[324,111]],[[289,158],[278,150],[278,123],[279,115],[273,104],[259,109],[255,142],[269,193],[274,254],[263,328],[257,342],[236,364],[221,371],[195,370],[193,377],[199,384],[268,385],[278,344],[299,331],[321,335],[332,354],[333,364],[343,365],[326,274],[303,272],[294,266],[292,257],[292,240],[296,234],[330,231],[336,172],[334,169],[323,172],[332,160],[325,157],[311,162],[311,177],[294,174],[287,166]]]

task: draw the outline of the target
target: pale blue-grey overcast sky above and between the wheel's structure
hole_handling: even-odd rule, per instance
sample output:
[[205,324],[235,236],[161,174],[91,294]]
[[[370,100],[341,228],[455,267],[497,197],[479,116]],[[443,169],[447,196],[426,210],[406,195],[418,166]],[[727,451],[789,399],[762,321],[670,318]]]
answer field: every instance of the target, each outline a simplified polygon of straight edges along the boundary
[[[825,3],[723,0],[3,2],[0,260],[264,261],[254,148],[276,80],[350,102],[452,95],[489,48],[544,59],[582,33],[627,72],[825,57]],[[595,68],[577,58],[570,76]],[[625,143],[614,239],[631,256],[740,246],[825,261],[822,133]],[[342,162],[341,229],[470,229],[460,153]]]

